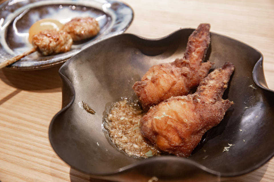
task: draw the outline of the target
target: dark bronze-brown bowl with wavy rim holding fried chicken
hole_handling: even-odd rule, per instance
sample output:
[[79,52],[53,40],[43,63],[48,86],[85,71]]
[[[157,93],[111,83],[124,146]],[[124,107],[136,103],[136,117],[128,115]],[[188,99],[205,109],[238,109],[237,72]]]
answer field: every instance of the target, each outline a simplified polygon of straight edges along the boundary
[[[60,69],[63,108],[52,119],[49,139],[67,164],[92,177],[116,181],[213,181],[248,173],[274,154],[274,93],[263,75],[262,54],[237,40],[211,33],[206,59],[235,65],[223,98],[235,104],[207,131],[190,158],[172,155],[140,159],[110,142],[102,122],[111,103],[132,98],[132,85],[154,64],[183,57],[194,29],[164,38],[121,34],[88,47]],[[253,74],[252,74],[253,73]],[[254,88],[253,88],[254,87]],[[82,108],[86,102],[95,115]],[[233,144],[229,151],[224,147]]]

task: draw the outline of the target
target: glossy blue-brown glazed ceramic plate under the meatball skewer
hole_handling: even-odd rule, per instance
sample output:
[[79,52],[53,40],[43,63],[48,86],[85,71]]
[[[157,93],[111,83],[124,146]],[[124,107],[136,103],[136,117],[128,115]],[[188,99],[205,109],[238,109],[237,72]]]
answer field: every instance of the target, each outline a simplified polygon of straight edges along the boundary
[[104,0],[10,0],[0,5],[0,62],[32,48],[29,28],[43,18],[66,23],[77,16],[95,17],[99,34],[74,42],[71,51],[53,56],[33,53],[14,63],[13,69],[40,69],[67,61],[70,57],[100,40],[123,33],[133,18],[132,9],[118,1]]

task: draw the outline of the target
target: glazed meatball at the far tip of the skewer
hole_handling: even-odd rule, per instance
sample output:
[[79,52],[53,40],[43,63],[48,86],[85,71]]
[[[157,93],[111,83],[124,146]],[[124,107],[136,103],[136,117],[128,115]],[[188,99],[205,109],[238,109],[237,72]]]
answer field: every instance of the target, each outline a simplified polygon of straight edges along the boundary
[[77,17],[67,22],[63,31],[68,32],[73,41],[94,37],[100,31],[98,21],[92,17]]

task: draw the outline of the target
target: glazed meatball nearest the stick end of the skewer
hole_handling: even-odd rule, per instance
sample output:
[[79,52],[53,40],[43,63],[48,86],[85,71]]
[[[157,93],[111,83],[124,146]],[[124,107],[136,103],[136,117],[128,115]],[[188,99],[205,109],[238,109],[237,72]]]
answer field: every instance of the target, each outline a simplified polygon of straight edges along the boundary
[[42,30],[33,36],[32,45],[43,55],[54,55],[69,51],[72,38],[67,32]]

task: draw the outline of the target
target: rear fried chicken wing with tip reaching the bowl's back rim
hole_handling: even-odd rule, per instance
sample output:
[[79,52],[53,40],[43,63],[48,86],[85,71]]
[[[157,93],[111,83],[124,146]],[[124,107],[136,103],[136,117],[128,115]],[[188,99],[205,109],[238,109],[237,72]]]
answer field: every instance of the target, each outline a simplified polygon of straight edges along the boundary
[[200,24],[190,35],[183,59],[152,66],[133,85],[144,110],[171,96],[186,95],[207,76],[211,63],[203,63],[210,44],[209,24]]

